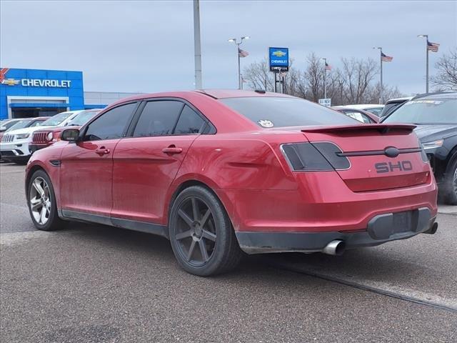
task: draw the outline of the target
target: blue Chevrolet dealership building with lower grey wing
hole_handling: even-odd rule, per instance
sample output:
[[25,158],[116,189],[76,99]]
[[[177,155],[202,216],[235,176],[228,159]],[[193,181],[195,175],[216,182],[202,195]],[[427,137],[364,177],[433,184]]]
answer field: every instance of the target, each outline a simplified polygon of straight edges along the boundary
[[82,71],[0,69],[0,119],[101,109],[135,94],[84,91]]

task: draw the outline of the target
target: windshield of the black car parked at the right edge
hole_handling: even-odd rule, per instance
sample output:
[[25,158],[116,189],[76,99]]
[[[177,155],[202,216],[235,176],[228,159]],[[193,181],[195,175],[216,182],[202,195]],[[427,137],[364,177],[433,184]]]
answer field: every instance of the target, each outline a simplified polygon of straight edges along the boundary
[[457,99],[417,99],[403,104],[383,123],[457,124]]

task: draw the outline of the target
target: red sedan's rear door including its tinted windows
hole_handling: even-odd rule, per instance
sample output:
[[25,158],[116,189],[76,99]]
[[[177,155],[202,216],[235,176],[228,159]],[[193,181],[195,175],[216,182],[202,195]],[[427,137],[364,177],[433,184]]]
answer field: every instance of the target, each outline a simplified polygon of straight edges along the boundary
[[181,101],[146,102],[131,137],[121,139],[114,151],[111,217],[165,224],[167,191],[189,147],[208,125]]

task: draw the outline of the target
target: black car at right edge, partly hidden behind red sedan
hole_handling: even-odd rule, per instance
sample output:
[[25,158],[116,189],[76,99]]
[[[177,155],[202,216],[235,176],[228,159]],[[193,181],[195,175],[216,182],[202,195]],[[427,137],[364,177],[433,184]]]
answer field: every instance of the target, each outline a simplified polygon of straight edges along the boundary
[[415,96],[383,123],[411,123],[448,204],[457,205],[457,92]]

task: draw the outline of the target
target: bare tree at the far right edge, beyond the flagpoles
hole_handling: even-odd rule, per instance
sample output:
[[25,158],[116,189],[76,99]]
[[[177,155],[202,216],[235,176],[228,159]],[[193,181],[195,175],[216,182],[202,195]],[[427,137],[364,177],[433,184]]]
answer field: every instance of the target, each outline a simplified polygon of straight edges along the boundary
[[431,78],[431,83],[439,90],[457,90],[457,49],[443,54],[435,68],[438,72]]

